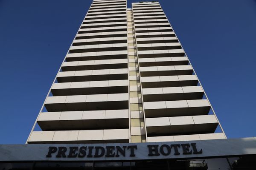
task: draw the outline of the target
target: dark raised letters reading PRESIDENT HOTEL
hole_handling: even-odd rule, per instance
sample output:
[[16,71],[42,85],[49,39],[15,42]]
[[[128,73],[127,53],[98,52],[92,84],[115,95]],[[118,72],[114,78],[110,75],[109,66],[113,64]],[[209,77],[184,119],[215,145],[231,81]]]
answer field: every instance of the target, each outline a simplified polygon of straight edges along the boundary
[[[173,155],[191,155],[201,154],[203,150],[198,150],[196,143],[183,144],[149,144],[147,145],[147,156],[169,156]],[[122,146],[49,146],[47,158],[55,156],[56,158],[99,158],[99,157],[136,157],[138,145],[122,145]]]

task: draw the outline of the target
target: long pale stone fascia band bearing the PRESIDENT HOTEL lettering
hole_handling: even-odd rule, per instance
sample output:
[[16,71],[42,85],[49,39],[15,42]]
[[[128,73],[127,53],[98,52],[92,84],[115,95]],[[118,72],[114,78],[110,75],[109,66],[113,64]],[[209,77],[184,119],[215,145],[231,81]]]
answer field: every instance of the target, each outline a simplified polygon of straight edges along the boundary
[[108,144],[0,144],[0,161],[135,161],[256,155],[256,138]]

